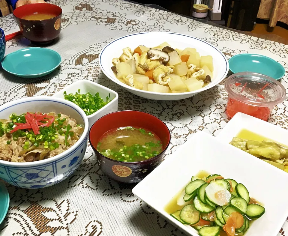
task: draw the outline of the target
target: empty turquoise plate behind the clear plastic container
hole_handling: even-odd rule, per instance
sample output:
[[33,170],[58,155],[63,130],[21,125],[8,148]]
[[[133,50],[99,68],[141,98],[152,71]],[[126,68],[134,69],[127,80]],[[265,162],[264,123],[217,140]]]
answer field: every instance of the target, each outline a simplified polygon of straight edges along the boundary
[[285,75],[285,69],[280,63],[263,55],[238,54],[232,56],[228,62],[233,73],[256,72],[277,80]]

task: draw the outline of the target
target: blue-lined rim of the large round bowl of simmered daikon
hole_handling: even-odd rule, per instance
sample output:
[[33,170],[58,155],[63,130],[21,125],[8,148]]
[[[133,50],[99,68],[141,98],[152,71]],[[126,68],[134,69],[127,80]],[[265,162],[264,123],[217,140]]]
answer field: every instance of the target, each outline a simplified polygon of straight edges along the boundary
[[[201,42],[203,42],[203,43],[208,44],[209,46],[211,46],[211,47],[213,47],[214,49],[216,49],[216,50],[223,56],[224,60],[226,61],[225,73],[224,73],[224,75],[221,77],[221,79],[219,79],[219,81],[217,82],[217,84],[220,84],[220,83],[223,81],[223,79],[226,78],[226,76],[227,76],[227,74],[228,74],[228,72],[229,72],[228,60],[227,60],[227,58],[225,57],[225,55],[224,55],[219,49],[217,49],[216,47],[214,47],[212,44],[207,43],[207,42],[205,42],[204,40],[201,40],[201,39],[199,39],[199,38],[195,38],[195,37],[192,37],[192,36],[189,36],[189,35],[186,35],[186,34],[177,34],[177,33],[172,33],[172,32],[161,32],[161,31],[152,31],[152,32],[142,32],[142,33],[136,33],[136,34],[129,34],[129,35],[120,37],[120,38],[115,39],[115,40],[113,40],[112,42],[108,43],[108,44],[101,50],[100,55],[99,55],[99,65],[100,65],[100,68],[101,68],[101,70],[103,71],[103,73],[110,79],[111,76],[104,70],[104,68],[103,68],[103,66],[102,66],[102,63],[101,63],[102,54],[103,54],[104,50],[105,50],[110,44],[116,42],[116,41],[119,40],[119,39],[122,39],[122,38],[125,38],[125,37],[130,37],[130,36],[132,36],[132,35],[137,35],[137,34],[149,34],[149,33],[176,34],[176,35],[181,35],[181,36],[193,38],[193,39],[195,39],[195,40],[198,40],[198,41],[201,41]],[[130,86],[128,86],[128,85],[125,85],[125,84],[122,83],[121,81],[119,81],[119,83],[116,82],[116,81],[118,80],[116,77],[113,78],[113,79],[110,79],[110,80],[112,80],[113,82],[119,84],[121,87],[128,88],[128,89],[131,89],[131,90],[133,90],[133,91],[141,91],[141,92],[146,93],[146,94],[155,94],[155,95],[165,94],[165,93],[150,92],[150,91],[145,91],[145,90],[141,90],[141,89],[137,89],[137,88],[132,88],[132,87],[130,87]],[[121,84],[120,84],[120,83],[121,83]],[[168,94],[169,94],[169,96],[177,96],[177,95],[185,95],[185,94],[194,94],[195,92],[196,92],[196,93],[200,93],[200,92],[203,92],[203,91],[205,91],[205,90],[207,90],[207,89],[209,89],[209,88],[212,88],[212,87],[216,86],[217,84],[213,84],[213,86],[211,86],[211,83],[210,83],[210,84],[208,84],[207,86],[205,86],[204,88],[201,88],[201,89],[198,89],[198,90],[195,90],[195,91],[192,91],[192,92],[168,93]]]

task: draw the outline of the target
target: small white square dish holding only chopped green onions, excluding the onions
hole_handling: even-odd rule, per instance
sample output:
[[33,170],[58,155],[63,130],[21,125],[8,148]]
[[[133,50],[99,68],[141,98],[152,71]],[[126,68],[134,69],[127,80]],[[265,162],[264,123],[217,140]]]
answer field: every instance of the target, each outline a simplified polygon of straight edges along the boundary
[[108,103],[106,106],[99,109],[97,112],[94,112],[91,115],[87,115],[88,123],[89,123],[89,130],[91,126],[97,121],[99,118],[101,118],[104,115],[107,115],[112,112],[118,111],[118,93],[111,90],[110,88],[106,88],[100,84],[97,84],[95,82],[92,82],[90,80],[78,80],[67,87],[61,89],[57,93],[53,95],[53,97],[59,97],[64,99],[63,92],[66,91],[67,94],[73,93],[75,94],[78,92],[78,89],[80,89],[81,94],[86,94],[90,92],[93,96],[96,93],[99,93],[100,97],[106,101],[106,97],[110,94],[111,102]]

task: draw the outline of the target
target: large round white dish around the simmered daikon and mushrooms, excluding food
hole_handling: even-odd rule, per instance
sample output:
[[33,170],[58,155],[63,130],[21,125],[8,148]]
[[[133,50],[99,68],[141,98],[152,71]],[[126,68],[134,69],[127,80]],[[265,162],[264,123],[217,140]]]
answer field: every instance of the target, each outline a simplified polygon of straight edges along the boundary
[[[145,45],[147,47],[155,47],[161,43],[167,42],[173,48],[179,48],[183,50],[186,47],[196,48],[200,55],[211,55],[213,57],[213,78],[212,82],[196,91],[187,93],[155,93],[149,91],[143,91],[140,89],[132,88],[124,83],[120,82],[113,71],[111,70],[112,59],[119,57],[123,52],[122,49],[130,47],[134,50],[139,45]],[[136,94],[140,97],[145,97],[153,100],[179,100],[188,97],[192,97],[204,90],[212,88],[219,84],[227,75],[229,65],[226,57],[216,47],[212,46],[203,40],[184,35],[169,32],[144,32],[137,34],[130,34],[121,38],[118,38],[111,43],[108,43],[101,51],[99,55],[99,64],[103,73],[111,79],[113,82],[119,84],[129,92]]]

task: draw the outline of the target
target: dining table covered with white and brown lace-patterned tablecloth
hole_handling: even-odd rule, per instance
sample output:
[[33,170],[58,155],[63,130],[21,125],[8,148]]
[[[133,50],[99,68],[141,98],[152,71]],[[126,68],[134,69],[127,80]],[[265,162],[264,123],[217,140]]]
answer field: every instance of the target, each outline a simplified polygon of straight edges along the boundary
[[[51,74],[34,79],[16,77],[1,69],[0,105],[23,97],[52,96],[77,80],[97,82],[119,94],[119,110],[148,112],[165,122],[171,132],[165,162],[193,133],[204,131],[217,136],[227,124],[225,80],[184,100],[138,97],[102,73],[98,59],[107,43],[145,31],[186,34],[217,47],[228,60],[240,53],[273,58],[285,68],[286,75],[280,82],[288,88],[288,45],[129,1],[56,0],[50,3],[63,9],[61,33],[54,43],[44,47],[61,55],[61,65]],[[5,34],[19,31],[13,14],[0,17],[0,27]],[[30,46],[34,45],[29,40],[17,36],[6,42],[6,55]],[[271,112],[268,122],[287,129],[287,107],[286,99]],[[59,184],[41,189],[5,185],[10,206],[0,225],[0,235],[183,235],[132,193],[135,184],[119,183],[105,176],[89,144],[79,168]],[[287,220],[280,235],[288,236]]]

